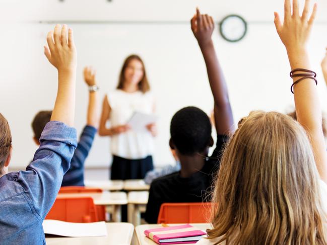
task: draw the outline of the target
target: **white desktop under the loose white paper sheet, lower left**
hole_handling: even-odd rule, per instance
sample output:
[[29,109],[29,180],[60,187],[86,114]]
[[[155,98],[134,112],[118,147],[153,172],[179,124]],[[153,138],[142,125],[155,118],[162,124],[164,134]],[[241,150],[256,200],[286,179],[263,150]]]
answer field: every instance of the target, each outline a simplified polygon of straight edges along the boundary
[[46,244],[53,245],[130,245],[134,226],[129,223],[106,223],[107,236],[95,237],[47,237]]

